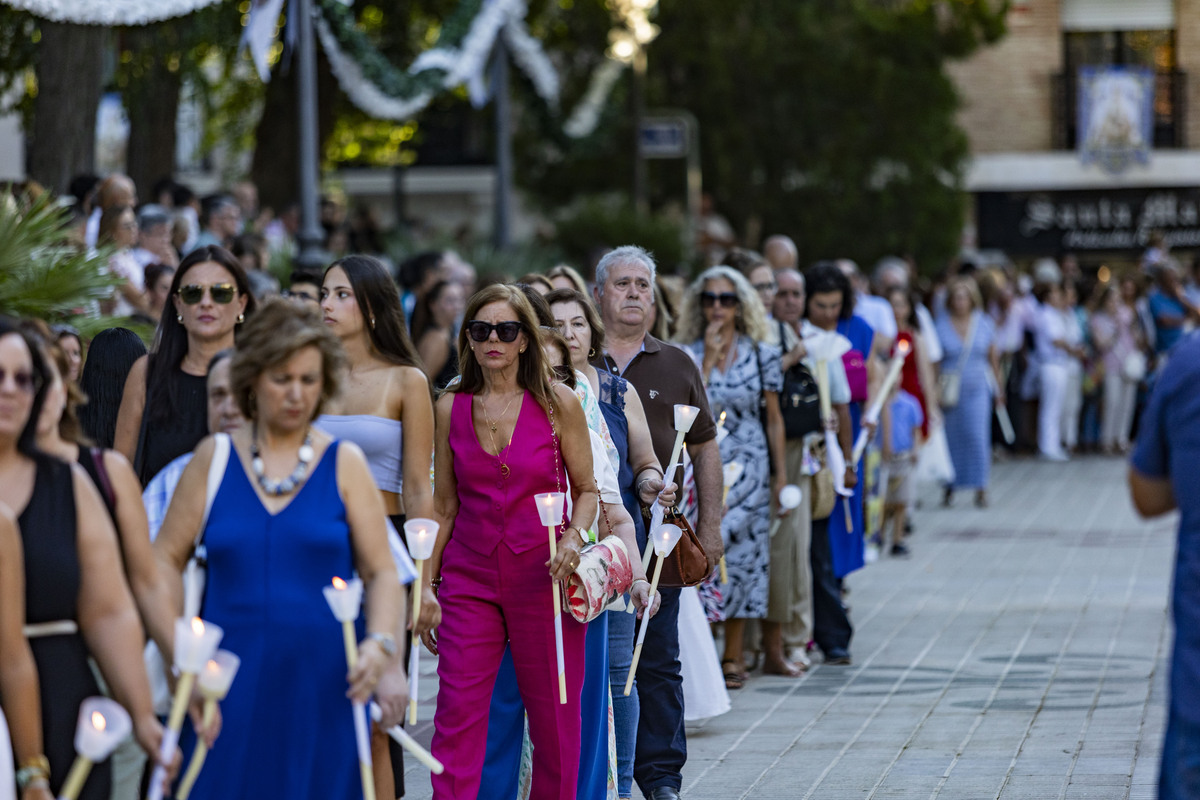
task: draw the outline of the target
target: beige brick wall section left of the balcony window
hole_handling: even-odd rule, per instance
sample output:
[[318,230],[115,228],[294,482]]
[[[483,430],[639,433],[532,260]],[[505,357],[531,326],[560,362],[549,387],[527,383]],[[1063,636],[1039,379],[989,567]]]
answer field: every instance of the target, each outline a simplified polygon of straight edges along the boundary
[[[1062,71],[1058,4],[1060,0],[1014,2],[1008,14],[1008,35],[998,44],[950,65],[949,73],[962,102],[959,124],[967,133],[972,152],[1050,149],[1052,76]],[[1200,20],[1196,35],[1200,36]]]

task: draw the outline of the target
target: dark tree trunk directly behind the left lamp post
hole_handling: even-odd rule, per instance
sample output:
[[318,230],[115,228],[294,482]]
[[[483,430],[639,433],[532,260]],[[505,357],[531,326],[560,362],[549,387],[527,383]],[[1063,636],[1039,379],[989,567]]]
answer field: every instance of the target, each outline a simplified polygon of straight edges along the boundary
[[[282,61],[280,62],[282,64]],[[294,65],[293,65],[294,66]],[[325,140],[334,131],[337,80],[325,54],[317,48],[317,146],[324,161]],[[300,137],[296,128],[296,71],[278,66],[271,73],[263,118],[254,133],[254,160],[250,175],[258,186],[259,204],[282,211],[300,198]]]

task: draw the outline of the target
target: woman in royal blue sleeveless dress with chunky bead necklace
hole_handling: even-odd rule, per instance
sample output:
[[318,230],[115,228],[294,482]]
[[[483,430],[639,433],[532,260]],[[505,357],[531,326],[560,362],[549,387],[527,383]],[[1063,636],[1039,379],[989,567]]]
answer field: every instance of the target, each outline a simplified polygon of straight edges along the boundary
[[[241,669],[221,704],[223,734],[196,783],[197,800],[362,798],[347,696],[371,696],[396,654],[404,602],[362,452],[312,427],[343,367],[320,317],[284,300],[251,320],[230,365],[250,425],[232,434],[203,531],[202,615],[224,630],[221,646]],[[200,443],[155,541],[176,596],[214,451],[214,438]],[[366,614],[348,670],[341,625],[322,590],[355,572]]]

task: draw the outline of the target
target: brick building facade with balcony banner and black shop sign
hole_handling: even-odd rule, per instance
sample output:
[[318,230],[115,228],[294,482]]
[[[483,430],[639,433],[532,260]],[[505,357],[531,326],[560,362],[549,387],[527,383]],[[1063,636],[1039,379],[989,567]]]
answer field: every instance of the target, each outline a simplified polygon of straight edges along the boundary
[[974,241],[1013,258],[1200,249],[1200,0],[1013,0],[950,70]]

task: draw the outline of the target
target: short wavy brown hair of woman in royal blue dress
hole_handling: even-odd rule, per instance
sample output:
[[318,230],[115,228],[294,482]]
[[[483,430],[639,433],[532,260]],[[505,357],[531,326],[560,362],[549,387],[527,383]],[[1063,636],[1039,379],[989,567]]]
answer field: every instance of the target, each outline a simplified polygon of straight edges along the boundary
[[310,347],[320,351],[320,399],[312,414],[316,420],[325,403],[342,391],[347,360],[337,336],[316,309],[283,297],[268,300],[246,320],[229,362],[229,383],[238,408],[247,420],[258,419],[254,383],[259,375]]

